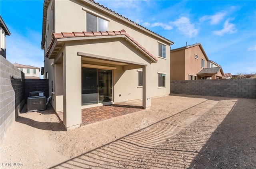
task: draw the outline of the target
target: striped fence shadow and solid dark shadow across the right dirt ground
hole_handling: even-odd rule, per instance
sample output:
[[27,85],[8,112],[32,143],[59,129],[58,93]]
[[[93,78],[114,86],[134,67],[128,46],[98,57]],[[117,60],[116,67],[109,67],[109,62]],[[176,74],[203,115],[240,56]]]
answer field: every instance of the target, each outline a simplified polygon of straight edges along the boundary
[[195,110],[204,110],[204,105],[210,104],[206,100],[51,168],[210,169],[245,168],[246,163],[247,168],[253,169],[256,100],[246,99],[248,105],[241,106],[242,99],[232,99],[219,100],[221,104],[195,114]]

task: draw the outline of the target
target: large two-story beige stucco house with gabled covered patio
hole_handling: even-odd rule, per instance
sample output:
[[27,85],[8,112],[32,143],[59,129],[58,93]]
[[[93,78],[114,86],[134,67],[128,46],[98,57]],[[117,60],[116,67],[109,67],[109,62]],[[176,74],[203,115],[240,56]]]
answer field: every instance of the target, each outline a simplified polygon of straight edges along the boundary
[[149,108],[170,94],[172,44],[93,0],[45,0],[42,74],[66,129],[80,126],[81,108],[136,99]]

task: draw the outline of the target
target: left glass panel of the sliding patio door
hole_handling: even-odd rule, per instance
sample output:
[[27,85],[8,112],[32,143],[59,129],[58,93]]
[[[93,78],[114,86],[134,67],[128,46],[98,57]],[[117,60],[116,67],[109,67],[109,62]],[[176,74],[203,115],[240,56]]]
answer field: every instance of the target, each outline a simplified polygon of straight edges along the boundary
[[82,67],[82,105],[97,103],[97,69]]

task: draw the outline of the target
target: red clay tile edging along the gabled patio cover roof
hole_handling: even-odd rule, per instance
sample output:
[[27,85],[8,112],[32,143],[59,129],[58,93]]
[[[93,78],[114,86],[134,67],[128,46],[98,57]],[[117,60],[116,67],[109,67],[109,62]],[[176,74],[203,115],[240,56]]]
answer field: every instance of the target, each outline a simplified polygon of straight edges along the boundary
[[92,32],[62,32],[62,33],[53,33],[52,41],[46,51],[46,57],[49,57],[50,51],[52,49],[53,43],[55,39],[69,38],[69,37],[89,37],[89,36],[114,36],[114,35],[125,35],[128,39],[134,42],[140,49],[142,49],[145,53],[147,53],[150,57],[152,57],[155,61],[158,61],[154,55],[152,55],[149,51],[147,51],[142,45],[140,45],[136,40],[134,40],[130,35],[126,33],[124,29],[121,31],[92,31]]

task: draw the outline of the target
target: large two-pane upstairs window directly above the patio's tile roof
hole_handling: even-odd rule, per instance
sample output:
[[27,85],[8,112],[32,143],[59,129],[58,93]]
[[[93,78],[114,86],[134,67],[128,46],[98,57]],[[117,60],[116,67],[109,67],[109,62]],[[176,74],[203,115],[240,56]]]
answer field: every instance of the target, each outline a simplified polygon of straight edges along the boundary
[[92,14],[86,13],[86,31],[107,31],[108,21],[94,16]]

